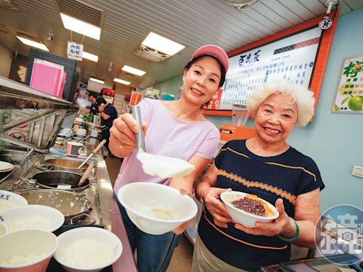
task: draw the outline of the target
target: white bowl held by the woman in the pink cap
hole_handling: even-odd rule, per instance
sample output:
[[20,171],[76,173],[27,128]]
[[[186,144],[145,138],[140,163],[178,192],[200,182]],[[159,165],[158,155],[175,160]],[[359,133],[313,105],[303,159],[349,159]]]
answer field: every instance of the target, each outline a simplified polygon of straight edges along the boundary
[[[164,234],[191,220],[198,210],[189,196],[157,183],[135,182],[121,187],[118,200],[143,232]],[[164,219],[160,219],[164,218]]]

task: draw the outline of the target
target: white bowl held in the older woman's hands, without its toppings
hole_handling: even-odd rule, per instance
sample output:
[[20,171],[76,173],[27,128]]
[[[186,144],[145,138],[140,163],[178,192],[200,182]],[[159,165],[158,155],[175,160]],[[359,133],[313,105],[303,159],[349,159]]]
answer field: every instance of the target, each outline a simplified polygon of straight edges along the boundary
[[235,208],[235,206],[233,206],[230,203],[229,198],[233,198],[235,196],[245,197],[247,195],[248,195],[247,193],[242,193],[242,192],[238,192],[238,191],[230,191],[230,192],[225,191],[220,194],[220,199],[223,200],[223,203],[225,203],[225,208],[227,208],[227,211],[228,211],[230,217],[232,217],[233,222],[238,222],[238,223],[244,225],[245,227],[255,227],[256,222],[265,223],[265,222],[269,222],[269,221],[274,220],[277,217],[279,217],[279,212],[274,207],[274,205],[272,205],[271,203],[268,203],[266,200],[263,200],[262,198],[259,198],[259,200],[262,200],[264,203],[267,203],[269,208],[274,212],[274,215],[272,215],[272,216],[252,215],[252,213],[250,213],[250,212],[245,212],[245,210]]

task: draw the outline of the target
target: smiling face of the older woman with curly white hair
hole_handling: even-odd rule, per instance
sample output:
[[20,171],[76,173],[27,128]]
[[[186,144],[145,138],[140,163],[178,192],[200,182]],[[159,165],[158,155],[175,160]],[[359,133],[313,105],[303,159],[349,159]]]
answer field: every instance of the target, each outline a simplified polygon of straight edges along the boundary
[[267,144],[284,142],[294,129],[297,118],[298,108],[289,96],[272,94],[257,109],[257,137]]

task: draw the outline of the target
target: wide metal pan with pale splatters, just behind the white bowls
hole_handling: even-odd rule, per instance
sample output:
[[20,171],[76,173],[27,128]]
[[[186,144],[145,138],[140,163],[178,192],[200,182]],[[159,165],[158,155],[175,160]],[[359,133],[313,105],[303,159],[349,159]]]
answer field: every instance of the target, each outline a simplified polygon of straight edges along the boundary
[[[89,215],[91,201],[85,196],[77,193],[60,190],[35,190],[21,193],[23,198],[28,200],[28,204],[45,205],[60,210],[65,215],[65,224],[83,223],[84,225],[94,224],[96,220]],[[91,222],[84,222],[86,218],[91,218]]]

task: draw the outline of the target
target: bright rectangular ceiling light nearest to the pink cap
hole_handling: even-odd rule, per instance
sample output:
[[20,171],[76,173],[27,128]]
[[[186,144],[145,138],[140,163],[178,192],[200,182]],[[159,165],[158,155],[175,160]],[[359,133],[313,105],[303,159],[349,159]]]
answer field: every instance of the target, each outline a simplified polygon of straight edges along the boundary
[[184,45],[180,45],[177,42],[173,42],[172,40],[164,38],[153,32],[150,32],[150,34],[147,35],[142,44],[170,56],[177,54],[177,52],[185,47]]

